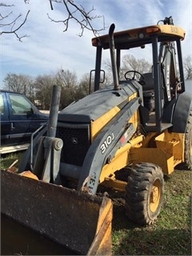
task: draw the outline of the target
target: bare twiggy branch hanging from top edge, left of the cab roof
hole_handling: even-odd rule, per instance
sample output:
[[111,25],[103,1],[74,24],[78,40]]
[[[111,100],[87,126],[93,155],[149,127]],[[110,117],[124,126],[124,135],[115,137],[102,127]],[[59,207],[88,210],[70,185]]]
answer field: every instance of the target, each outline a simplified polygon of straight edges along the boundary
[[[82,37],[82,34],[84,30],[90,30],[94,33],[94,36],[98,35],[99,31],[105,30],[105,22],[104,22],[104,17],[103,16],[91,16],[91,12],[94,11],[94,6],[92,7],[91,10],[86,11],[82,5],[77,5],[74,3],[72,0],[50,0],[50,2],[55,2],[55,3],[63,3],[64,6],[66,7],[67,11],[67,18],[63,20],[54,20],[53,18],[50,18],[50,15],[47,14],[48,18],[50,18],[51,22],[56,22],[56,23],[63,23],[65,26],[65,30],[63,32],[66,32],[69,28],[70,20],[74,20],[75,22],[78,23],[80,26],[81,32],[78,34],[80,37]],[[53,5],[51,4],[53,10]],[[103,18],[103,27],[102,29],[95,29],[94,26],[92,26],[92,22],[96,18]]]

